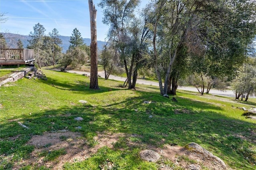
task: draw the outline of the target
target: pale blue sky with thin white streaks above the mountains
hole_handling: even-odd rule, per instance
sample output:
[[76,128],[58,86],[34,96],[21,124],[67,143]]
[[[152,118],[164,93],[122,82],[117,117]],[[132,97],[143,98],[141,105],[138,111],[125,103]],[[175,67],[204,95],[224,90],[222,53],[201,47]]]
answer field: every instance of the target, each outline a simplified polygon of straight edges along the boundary
[[[97,40],[104,41],[108,26],[102,23],[102,10],[97,6]],[[142,0],[142,5],[148,0]],[[83,38],[90,38],[90,16],[88,0],[0,0],[0,13],[8,20],[0,23],[0,32],[29,35],[40,23],[45,33],[56,28],[60,35],[71,36],[77,28]]]

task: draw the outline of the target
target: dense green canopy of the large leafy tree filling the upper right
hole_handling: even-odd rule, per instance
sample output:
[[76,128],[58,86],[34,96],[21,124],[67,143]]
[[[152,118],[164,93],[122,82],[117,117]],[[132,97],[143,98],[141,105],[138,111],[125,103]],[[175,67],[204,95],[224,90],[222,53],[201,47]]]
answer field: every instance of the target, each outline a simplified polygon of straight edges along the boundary
[[192,61],[192,72],[201,77],[232,75],[255,36],[255,9],[255,2],[244,0],[155,1],[153,60],[161,94],[168,92],[162,78],[169,84],[182,47]]

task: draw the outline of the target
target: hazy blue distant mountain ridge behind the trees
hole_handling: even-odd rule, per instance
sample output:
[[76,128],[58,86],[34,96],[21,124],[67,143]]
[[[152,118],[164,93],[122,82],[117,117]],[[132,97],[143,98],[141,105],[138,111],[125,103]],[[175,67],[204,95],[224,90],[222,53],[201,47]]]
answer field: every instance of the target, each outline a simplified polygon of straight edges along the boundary
[[[14,33],[2,33],[6,39],[6,42],[8,43],[8,47],[11,48],[16,48],[18,39],[20,39],[24,45],[24,48],[26,48],[28,46],[28,40],[30,40],[30,36],[28,35],[20,35],[20,34],[14,34]],[[62,44],[60,45],[60,47],[62,47],[62,52],[65,53],[68,50],[68,47],[70,45],[69,40],[70,37],[68,36],[62,36],[60,35],[60,39],[62,40]],[[90,38],[84,38],[84,43],[86,45],[90,45],[91,43],[91,39]],[[104,41],[97,41],[98,42],[98,49],[99,51],[103,50],[104,45],[106,44],[106,42]]]

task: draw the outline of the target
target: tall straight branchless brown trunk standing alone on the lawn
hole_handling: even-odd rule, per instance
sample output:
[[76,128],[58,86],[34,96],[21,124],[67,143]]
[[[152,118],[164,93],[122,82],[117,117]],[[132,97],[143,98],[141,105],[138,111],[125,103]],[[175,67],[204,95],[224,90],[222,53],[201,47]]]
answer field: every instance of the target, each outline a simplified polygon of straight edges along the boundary
[[90,24],[91,24],[91,76],[90,76],[90,89],[99,90],[98,86],[98,48],[97,48],[97,27],[96,16],[97,10],[93,4],[93,0],[88,0],[90,11]]

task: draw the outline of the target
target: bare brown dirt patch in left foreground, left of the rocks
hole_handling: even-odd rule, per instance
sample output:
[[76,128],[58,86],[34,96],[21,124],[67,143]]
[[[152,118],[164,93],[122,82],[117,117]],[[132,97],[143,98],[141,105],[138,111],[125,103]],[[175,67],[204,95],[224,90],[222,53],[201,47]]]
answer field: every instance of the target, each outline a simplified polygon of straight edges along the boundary
[[[95,147],[88,147],[86,145],[86,139],[84,139],[80,133],[61,131],[57,133],[44,133],[44,135],[33,136],[27,145],[33,145],[34,151],[31,153],[28,160],[23,160],[16,165],[13,170],[18,170],[22,166],[46,166],[53,170],[60,170],[66,162],[77,162],[85,160],[94,154],[103,146],[112,147],[113,143],[118,141],[119,137],[123,134],[111,134],[111,133],[99,133],[98,136],[94,137],[94,140],[98,142]],[[40,156],[42,152],[51,152],[52,150],[64,149],[66,154],[60,155],[54,161],[45,161],[44,156]]]

